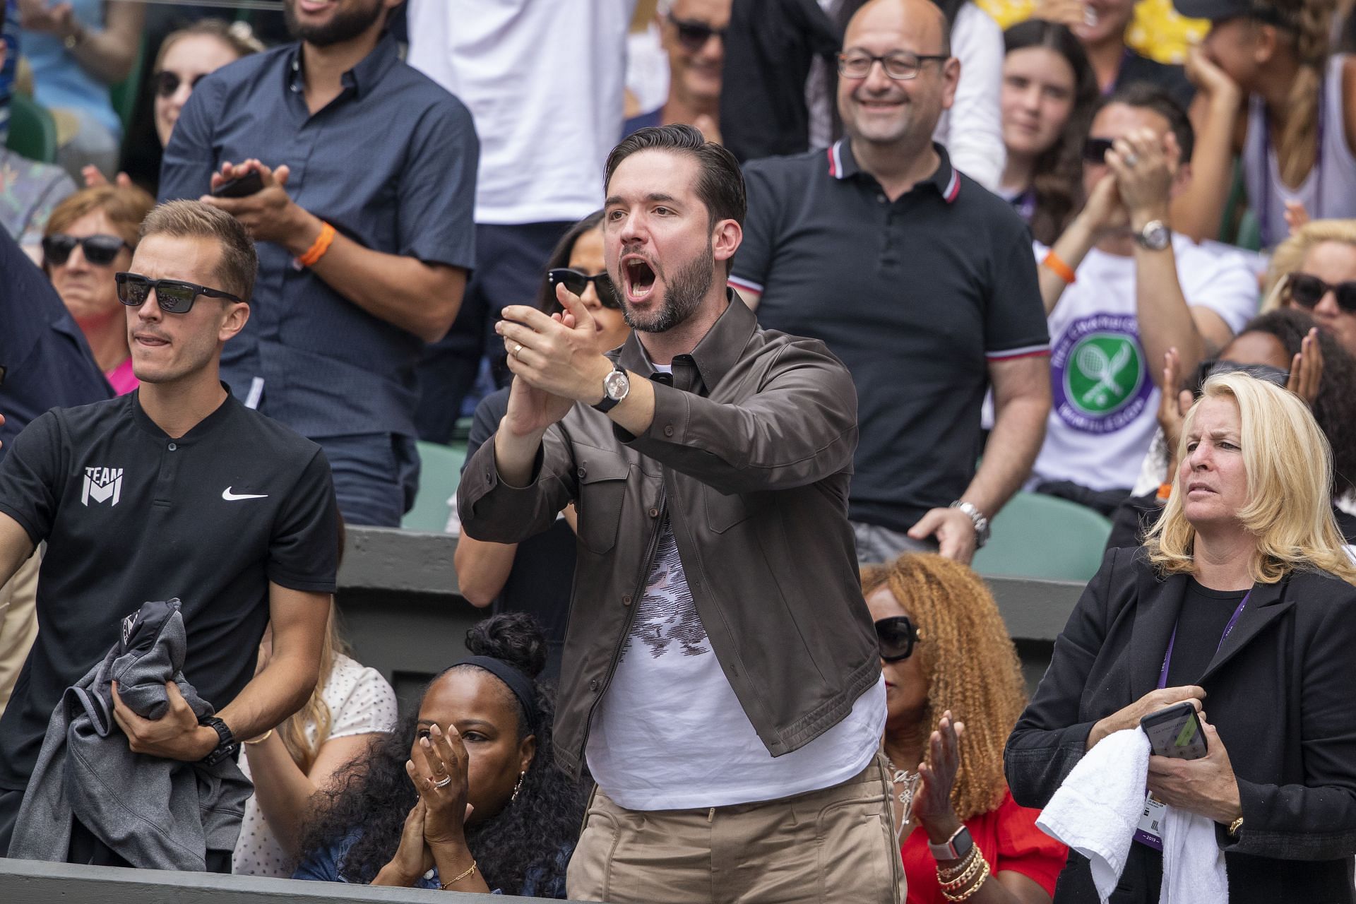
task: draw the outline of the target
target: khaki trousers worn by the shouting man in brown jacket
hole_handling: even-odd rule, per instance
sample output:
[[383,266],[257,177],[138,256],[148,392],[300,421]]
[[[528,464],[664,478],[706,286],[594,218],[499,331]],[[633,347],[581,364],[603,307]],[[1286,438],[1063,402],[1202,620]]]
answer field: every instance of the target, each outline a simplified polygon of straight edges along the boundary
[[628,810],[594,789],[565,876],[616,904],[903,904],[881,756],[842,785],[694,810]]

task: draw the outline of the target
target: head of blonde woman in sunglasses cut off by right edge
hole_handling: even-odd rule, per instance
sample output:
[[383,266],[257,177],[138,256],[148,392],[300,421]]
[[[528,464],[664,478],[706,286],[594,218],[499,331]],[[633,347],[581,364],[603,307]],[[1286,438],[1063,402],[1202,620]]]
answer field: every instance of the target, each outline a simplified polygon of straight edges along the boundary
[[1313,220],[1277,245],[1262,310],[1299,308],[1356,355],[1356,220]]

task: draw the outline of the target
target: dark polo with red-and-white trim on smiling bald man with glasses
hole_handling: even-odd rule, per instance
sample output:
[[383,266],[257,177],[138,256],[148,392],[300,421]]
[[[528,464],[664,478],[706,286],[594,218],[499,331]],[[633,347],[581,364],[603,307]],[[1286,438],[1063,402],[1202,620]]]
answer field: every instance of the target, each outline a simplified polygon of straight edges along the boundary
[[937,171],[891,202],[848,140],[744,167],[730,283],[758,321],[822,339],[857,385],[849,516],[909,530],[975,474],[989,366],[1050,354],[1031,232],[1012,206]]

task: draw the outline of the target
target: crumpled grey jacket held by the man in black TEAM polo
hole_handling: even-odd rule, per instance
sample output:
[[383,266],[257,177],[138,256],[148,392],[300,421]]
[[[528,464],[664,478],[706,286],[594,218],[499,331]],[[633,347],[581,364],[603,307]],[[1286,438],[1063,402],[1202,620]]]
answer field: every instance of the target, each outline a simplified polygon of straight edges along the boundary
[[231,851],[240,835],[250,779],[231,759],[216,766],[133,754],[113,718],[111,682],[144,718],[170,707],[179,686],[202,718],[212,703],[183,678],[187,636],[179,600],[144,603],[122,619],[122,640],[68,687],[47,722],[9,844],[9,857],[64,862],[72,819],[142,869],[206,869],[206,852]]

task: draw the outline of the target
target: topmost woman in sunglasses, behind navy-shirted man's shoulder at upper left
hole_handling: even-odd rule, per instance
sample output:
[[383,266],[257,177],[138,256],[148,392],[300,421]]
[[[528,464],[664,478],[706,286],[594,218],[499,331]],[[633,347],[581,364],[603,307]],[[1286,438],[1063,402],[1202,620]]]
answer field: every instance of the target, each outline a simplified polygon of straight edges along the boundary
[[[170,144],[170,133],[179,119],[179,111],[188,103],[188,96],[203,76],[260,50],[263,43],[254,37],[245,22],[199,19],[186,28],[165,35],[151,72],[156,137],[160,138],[160,146]],[[81,175],[87,186],[107,182],[96,167],[85,167]],[[130,182],[127,173],[118,173],[118,184]]]

